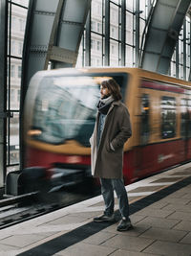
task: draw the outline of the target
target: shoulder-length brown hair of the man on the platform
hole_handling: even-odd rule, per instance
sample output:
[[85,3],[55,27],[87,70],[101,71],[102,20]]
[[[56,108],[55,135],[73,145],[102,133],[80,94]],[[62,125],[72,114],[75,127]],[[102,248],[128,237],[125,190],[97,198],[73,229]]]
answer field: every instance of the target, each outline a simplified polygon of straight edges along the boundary
[[101,85],[103,86],[103,88],[108,88],[115,101],[119,101],[122,99],[122,95],[120,93],[120,86],[118,85],[117,81],[115,81],[114,79],[109,79],[102,81]]

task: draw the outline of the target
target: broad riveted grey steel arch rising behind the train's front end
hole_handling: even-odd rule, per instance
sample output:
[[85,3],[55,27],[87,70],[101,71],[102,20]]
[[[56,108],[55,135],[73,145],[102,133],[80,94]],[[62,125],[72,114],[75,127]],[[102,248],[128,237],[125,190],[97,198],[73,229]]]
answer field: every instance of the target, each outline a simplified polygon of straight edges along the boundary
[[31,0],[24,40],[21,107],[32,75],[74,66],[91,0]]

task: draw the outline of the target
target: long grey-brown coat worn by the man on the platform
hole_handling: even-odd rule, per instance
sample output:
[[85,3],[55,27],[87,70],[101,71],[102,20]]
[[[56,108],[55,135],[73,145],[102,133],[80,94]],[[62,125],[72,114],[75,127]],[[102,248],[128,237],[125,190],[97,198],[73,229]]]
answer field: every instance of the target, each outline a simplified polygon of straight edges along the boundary
[[[97,150],[98,119],[99,113],[96,117],[93,135],[90,138],[92,174],[102,178],[122,178],[123,145],[132,134],[128,109],[120,101],[112,103]],[[115,151],[112,151],[110,143]]]

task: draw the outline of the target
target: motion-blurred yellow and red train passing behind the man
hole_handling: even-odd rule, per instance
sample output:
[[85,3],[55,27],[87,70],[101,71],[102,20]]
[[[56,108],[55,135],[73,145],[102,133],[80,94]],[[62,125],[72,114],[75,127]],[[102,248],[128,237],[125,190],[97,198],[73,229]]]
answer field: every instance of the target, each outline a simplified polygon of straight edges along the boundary
[[[125,184],[191,159],[191,82],[138,68],[65,68],[37,72],[25,101],[25,167],[73,184],[91,177],[89,138],[100,81],[113,78],[133,136],[124,146]],[[33,172],[33,171],[32,171]]]

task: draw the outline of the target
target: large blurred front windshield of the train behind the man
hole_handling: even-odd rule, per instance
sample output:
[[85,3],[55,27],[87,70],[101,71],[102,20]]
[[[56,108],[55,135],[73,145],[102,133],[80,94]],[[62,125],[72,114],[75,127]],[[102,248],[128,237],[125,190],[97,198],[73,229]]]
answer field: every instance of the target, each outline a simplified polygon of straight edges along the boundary
[[[127,74],[111,75],[125,93]],[[32,139],[51,144],[75,140],[89,147],[103,77],[108,74],[44,77],[38,86],[32,119],[32,129],[39,132]]]

